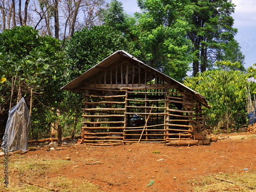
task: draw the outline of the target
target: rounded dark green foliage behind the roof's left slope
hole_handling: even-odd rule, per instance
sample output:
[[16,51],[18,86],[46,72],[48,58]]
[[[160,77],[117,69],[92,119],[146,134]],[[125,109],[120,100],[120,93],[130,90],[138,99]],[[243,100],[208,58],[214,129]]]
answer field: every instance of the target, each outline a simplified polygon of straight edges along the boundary
[[70,80],[95,66],[117,50],[131,51],[120,31],[110,26],[94,26],[75,32],[66,44]]

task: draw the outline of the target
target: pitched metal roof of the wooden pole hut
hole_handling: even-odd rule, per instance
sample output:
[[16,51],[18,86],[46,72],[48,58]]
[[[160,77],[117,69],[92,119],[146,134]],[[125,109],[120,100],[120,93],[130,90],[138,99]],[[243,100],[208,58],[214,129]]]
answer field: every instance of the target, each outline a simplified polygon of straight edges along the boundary
[[105,69],[108,68],[109,66],[113,65],[113,63],[121,61],[124,58],[128,58],[130,60],[133,61],[137,61],[139,62],[141,65],[146,66],[148,69],[151,69],[152,71],[154,71],[154,73],[164,77],[165,79],[168,79],[170,82],[176,83],[178,84],[180,87],[182,87],[183,89],[194,93],[198,98],[200,98],[203,103],[210,108],[210,106],[208,105],[205,97],[201,94],[199,94],[198,92],[188,88],[187,86],[185,86],[184,84],[180,83],[179,81],[170,78],[169,76],[155,70],[154,68],[147,66],[145,63],[143,63],[142,61],[138,60],[136,57],[134,57],[133,55],[123,51],[123,50],[119,50],[116,51],[115,53],[113,53],[112,55],[110,55],[109,57],[105,58],[104,60],[102,60],[101,62],[99,62],[97,65],[95,65],[94,67],[92,67],[91,69],[87,70],[86,72],[84,72],[83,74],[81,74],[80,76],[78,76],[77,78],[75,78],[74,80],[70,81],[68,84],[66,84],[64,87],[62,87],[62,90],[76,90],[76,88],[82,86],[85,82],[87,82],[91,77],[94,77],[95,74],[98,72],[99,69]]

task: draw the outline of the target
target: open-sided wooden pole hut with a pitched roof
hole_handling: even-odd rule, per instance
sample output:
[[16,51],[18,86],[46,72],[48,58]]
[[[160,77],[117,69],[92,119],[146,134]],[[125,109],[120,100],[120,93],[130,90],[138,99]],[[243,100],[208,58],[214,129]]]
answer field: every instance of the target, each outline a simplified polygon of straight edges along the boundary
[[83,143],[193,141],[205,97],[116,51],[62,90],[84,93]]

